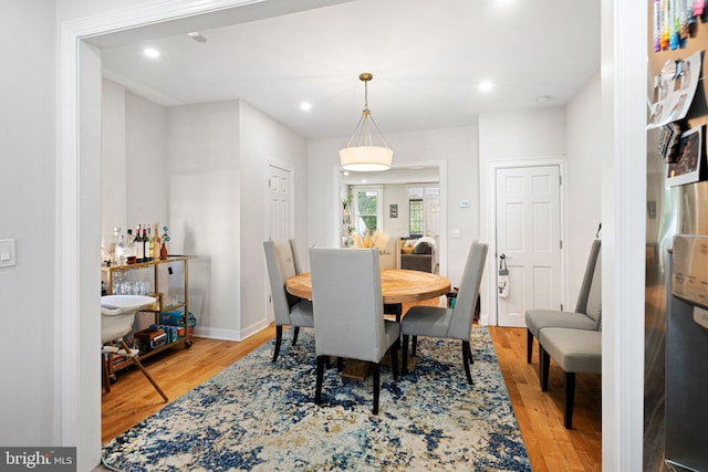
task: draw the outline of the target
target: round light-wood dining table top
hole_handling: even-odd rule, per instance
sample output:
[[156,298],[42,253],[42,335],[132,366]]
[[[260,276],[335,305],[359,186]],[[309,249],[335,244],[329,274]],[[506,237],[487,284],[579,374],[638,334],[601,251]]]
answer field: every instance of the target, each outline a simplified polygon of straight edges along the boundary
[[[310,272],[288,279],[285,290],[292,295],[312,300]],[[385,304],[419,302],[448,293],[450,281],[428,272],[382,269],[381,291]]]

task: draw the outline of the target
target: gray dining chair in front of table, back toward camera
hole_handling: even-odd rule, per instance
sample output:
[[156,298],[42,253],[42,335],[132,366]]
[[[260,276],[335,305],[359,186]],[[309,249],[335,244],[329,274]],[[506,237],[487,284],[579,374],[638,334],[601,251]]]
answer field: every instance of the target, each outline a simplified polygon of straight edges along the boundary
[[317,378],[314,401],[322,402],[324,367],[330,357],[373,364],[374,415],[378,413],[379,364],[392,350],[398,378],[399,324],[384,319],[376,249],[310,249]]

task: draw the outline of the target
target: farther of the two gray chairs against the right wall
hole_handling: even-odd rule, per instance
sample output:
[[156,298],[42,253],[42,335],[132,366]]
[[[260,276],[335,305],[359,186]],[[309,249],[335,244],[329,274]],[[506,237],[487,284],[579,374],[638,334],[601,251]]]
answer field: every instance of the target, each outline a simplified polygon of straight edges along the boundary
[[[601,241],[594,240],[590,248],[590,256],[585,268],[585,275],[580,287],[574,312],[559,310],[529,310],[525,312],[527,323],[527,363],[531,364],[533,355],[533,338],[544,327],[593,329],[600,328],[602,323],[602,264]],[[539,357],[542,353],[539,352]],[[540,363],[542,359],[540,359]]]

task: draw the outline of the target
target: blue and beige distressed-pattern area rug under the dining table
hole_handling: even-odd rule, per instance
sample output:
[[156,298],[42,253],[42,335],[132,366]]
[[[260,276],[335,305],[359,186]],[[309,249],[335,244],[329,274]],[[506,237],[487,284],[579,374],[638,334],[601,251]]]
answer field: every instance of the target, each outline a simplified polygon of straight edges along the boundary
[[104,444],[124,471],[531,471],[489,331],[475,326],[475,385],[460,342],[418,339],[414,373],[382,368],[378,416],[372,379],[325,373],[313,402],[314,336],[288,331]]

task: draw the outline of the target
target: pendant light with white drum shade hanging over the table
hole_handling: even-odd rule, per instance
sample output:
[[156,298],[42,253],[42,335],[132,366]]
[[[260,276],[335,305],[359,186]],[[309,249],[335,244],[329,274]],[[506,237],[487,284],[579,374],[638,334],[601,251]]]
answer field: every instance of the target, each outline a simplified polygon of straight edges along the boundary
[[[368,109],[368,82],[374,78],[368,72],[360,74],[358,80],[364,82],[364,111],[356,123],[354,134],[346,147],[340,149],[340,164],[345,170],[358,172],[387,170],[394,158],[394,151],[388,148],[386,140],[381,135],[381,129]],[[375,146],[372,139],[371,125],[374,125],[383,146]]]

